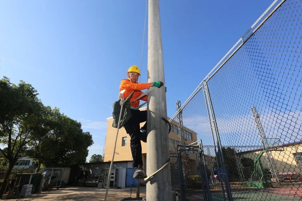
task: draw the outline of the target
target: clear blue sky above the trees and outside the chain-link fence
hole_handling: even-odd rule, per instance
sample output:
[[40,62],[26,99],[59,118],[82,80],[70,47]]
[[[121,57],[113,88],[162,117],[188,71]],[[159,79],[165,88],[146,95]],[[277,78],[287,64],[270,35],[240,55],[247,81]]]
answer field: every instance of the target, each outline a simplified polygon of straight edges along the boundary
[[[272,0],[161,0],[168,116]],[[87,161],[102,154],[112,103],[140,65],[145,0],[0,1],[0,76],[24,80],[45,105],[93,135]],[[148,22],[148,19],[147,19]],[[141,82],[147,81],[147,33]]]

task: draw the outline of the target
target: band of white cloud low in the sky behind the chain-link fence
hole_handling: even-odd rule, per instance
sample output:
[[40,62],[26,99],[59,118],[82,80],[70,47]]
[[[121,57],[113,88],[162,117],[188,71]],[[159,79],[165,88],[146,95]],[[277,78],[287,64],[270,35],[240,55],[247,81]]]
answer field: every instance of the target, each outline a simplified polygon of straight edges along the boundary
[[[278,138],[281,144],[299,141],[302,138],[302,111],[273,112],[265,110],[260,116],[266,138]],[[261,145],[258,130],[252,114],[231,116],[230,118],[216,118],[222,145]],[[209,120],[206,115],[183,115],[183,126],[197,133],[197,139],[205,144],[213,144]]]

